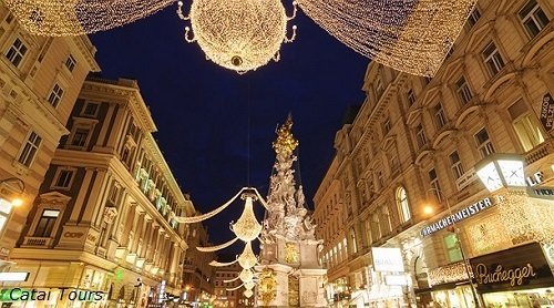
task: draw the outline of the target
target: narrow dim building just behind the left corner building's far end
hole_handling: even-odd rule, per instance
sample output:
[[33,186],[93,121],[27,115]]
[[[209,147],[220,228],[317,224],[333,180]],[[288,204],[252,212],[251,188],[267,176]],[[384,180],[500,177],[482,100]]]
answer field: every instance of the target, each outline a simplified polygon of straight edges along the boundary
[[215,268],[209,263],[215,259],[215,254],[201,253],[196,249],[196,247],[212,246],[208,242],[207,227],[199,223],[189,225],[186,244],[188,249],[183,265],[186,300],[209,302],[212,295],[214,295],[215,275]]

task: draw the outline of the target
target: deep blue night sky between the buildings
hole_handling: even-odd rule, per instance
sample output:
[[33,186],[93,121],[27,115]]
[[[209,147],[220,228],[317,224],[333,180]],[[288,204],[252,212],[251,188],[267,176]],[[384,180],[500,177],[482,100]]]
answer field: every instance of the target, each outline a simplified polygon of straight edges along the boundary
[[[299,12],[293,21],[297,40],[281,48],[281,60],[238,75],[206,61],[196,43],[184,41],[185,24],[175,9],[92,35],[102,75],[138,81],[158,127],[160,147],[202,212],[247,184],[248,116],[250,185],[267,194],[275,127],[291,112],[306,199],[314,208],[311,199],[335,153],[332,142],[346,109],[363,101],[369,60]],[[230,238],[228,223],[239,213],[235,204],[207,222],[212,242]]]

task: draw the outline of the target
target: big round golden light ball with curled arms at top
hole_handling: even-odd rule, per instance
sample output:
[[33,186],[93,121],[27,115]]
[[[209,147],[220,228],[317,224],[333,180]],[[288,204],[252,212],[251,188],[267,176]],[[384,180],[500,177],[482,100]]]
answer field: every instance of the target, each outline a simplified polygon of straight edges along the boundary
[[193,0],[188,16],[179,1],[177,14],[191,21],[192,29],[185,27],[187,42],[197,42],[208,60],[238,73],[279,61],[281,44],[296,38],[296,25],[287,37],[296,2],[291,17],[280,0]]

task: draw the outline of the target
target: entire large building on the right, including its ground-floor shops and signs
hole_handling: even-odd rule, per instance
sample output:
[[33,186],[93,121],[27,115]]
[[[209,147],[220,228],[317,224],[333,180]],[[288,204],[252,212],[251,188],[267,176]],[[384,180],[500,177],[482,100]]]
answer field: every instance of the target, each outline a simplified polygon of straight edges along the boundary
[[[550,1],[480,0],[434,78],[369,64],[367,97],[337,132],[314,199],[330,300],[552,302],[553,230],[543,222],[553,208],[553,19]],[[491,193],[496,179],[484,185],[478,171],[499,154],[520,157],[534,188]],[[397,248],[402,264],[378,270],[393,255],[376,247]],[[542,274],[514,285],[483,278],[493,263],[525,267],[510,259],[521,254]]]

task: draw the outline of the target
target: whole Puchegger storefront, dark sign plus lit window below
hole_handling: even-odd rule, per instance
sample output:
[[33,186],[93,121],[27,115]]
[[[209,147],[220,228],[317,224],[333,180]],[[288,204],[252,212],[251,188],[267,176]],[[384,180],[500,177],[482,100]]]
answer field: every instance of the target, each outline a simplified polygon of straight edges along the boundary
[[484,307],[554,307],[552,260],[540,244],[480,256],[470,264]]

